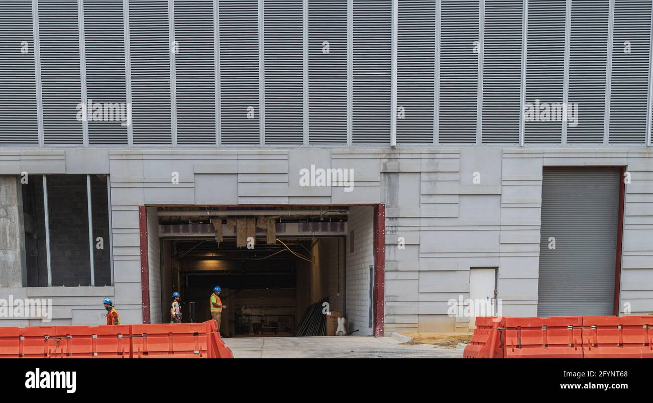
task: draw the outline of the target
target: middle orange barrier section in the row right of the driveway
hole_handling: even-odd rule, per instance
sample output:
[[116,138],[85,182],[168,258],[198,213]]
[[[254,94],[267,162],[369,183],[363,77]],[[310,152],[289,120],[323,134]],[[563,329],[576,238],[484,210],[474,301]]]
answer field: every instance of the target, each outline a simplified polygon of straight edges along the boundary
[[505,318],[505,358],[582,358],[582,317]]

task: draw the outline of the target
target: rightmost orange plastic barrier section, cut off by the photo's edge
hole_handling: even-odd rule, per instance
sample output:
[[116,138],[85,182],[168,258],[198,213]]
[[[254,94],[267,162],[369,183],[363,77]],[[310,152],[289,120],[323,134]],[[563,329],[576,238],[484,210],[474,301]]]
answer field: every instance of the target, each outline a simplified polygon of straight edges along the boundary
[[583,316],[585,358],[653,358],[653,316]]

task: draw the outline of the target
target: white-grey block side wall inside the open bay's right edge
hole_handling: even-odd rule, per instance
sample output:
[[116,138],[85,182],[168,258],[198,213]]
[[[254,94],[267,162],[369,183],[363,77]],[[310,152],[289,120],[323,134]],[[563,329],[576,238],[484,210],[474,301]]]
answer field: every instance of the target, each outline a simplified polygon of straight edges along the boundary
[[370,266],[374,265],[373,217],[373,207],[355,206],[349,209],[347,219],[347,329],[350,332],[358,329],[354,333],[357,336],[372,335],[373,331],[370,327]]

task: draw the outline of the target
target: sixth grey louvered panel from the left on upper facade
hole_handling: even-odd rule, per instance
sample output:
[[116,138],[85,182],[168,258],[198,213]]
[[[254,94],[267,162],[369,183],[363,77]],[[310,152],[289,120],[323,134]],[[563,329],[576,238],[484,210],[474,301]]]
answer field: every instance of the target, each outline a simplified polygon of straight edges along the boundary
[[[259,139],[259,6],[257,0],[220,0],[221,143]],[[251,114],[248,115],[248,108]]]

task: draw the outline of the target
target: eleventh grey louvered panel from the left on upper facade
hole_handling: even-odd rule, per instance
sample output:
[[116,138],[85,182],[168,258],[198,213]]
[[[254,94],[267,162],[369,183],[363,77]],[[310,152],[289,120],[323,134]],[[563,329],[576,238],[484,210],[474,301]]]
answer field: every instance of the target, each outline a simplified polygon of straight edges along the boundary
[[476,143],[479,1],[442,0],[438,143]]

